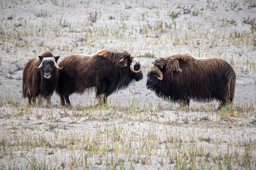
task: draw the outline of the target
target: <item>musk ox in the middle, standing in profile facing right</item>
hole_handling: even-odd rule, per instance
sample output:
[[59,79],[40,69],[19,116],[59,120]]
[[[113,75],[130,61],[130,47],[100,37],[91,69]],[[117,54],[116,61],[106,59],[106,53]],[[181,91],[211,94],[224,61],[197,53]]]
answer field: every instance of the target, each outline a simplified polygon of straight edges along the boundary
[[109,95],[143,79],[139,61],[126,51],[102,49],[93,55],[70,55],[59,65],[56,93],[61,105],[70,105],[69,96],[95,88],[98,104],[106,104]]

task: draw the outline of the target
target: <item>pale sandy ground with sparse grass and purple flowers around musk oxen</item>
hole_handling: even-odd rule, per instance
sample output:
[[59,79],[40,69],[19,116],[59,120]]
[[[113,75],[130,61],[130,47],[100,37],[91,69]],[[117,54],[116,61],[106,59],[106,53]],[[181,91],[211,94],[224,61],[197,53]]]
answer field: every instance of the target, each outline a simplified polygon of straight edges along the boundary
[[[256,2],[0,1],[0,169],[255,169]],[[95,93],[63,107],[28,105],[23,69],[60,56],[125,50],[144,78],[95,106]],[[234,103],[164,101],[146,88],[154,60],[188,52],[236,73]],[[64,68],[64,67],[63,67]]]

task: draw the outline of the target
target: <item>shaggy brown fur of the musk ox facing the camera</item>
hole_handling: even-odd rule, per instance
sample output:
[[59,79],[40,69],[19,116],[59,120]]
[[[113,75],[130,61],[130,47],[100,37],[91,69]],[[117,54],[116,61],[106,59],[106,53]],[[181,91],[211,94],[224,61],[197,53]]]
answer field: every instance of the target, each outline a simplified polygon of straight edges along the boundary
[[[30,59],[23,70],[23,82],[22,82],[22,96],[28,97],[28,103],[35,103],[35,98],[38,97],[38,104],[41,103],[41,97],[47,99],[47,104],[50,104],[52,93],[58,79],[58,71],[54,66],[51,78],[44,78],[43,68],[36,70],[34,67],[38,67],[43,58],[54,57],[51,52],[44,52],[37,58]],[[59,56],[54,57],[55,62],[59,59]],[[53,64],[53,62],[52,62]]]

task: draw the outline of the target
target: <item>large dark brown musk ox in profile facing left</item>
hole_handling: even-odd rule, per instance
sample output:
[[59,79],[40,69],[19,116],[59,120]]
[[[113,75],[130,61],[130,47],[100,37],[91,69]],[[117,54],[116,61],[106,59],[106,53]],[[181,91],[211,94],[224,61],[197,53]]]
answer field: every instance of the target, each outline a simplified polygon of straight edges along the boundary
[[189,106],[189,100],[233,103],[236,74],[226,61],[218,58],[196,58],[188,53],[173,54],[154,61],[148,72],[147,89],[170,102]]

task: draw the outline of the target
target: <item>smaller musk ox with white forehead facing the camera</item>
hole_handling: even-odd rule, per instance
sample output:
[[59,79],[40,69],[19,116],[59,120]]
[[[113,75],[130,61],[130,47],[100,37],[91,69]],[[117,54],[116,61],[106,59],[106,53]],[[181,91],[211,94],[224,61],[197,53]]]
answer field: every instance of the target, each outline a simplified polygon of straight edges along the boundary
[[53,56],[51,52],[44,52],[40,56],[28,60],[23,70],[22,95],[28,97],[28,103],[41,104],[42,97],[47,104],[51,103],[51,96],[58,81],[58,70],[63,67],[57,65],[60,56]]

